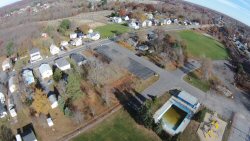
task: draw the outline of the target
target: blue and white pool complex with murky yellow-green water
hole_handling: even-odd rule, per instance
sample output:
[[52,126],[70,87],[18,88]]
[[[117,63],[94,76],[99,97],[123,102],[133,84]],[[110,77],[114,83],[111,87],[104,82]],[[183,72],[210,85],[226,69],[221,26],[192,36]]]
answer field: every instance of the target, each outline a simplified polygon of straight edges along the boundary
[[199,107],[200,103],[196,97],[178,90],[178,93],[175,93],[155,112],[153,118],[155,123],[162,121],[162,128],[165,132],[176,135],[185,130]]

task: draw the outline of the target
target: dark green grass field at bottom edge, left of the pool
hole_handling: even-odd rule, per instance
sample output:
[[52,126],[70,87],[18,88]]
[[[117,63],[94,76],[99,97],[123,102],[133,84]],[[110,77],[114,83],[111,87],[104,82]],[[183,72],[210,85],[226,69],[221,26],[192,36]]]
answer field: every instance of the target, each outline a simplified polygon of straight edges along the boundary
[[81,134],[73,141],[159,141],[152,131],[135,123],[123,110],[116,112],[95,128]]

